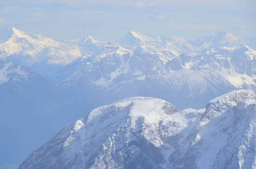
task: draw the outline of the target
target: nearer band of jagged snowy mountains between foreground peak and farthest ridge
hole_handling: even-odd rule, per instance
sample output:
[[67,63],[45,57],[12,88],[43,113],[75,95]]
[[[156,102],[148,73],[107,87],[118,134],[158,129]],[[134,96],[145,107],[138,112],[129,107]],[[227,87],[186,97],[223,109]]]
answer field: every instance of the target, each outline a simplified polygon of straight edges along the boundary
[[[102,103],[157,97],[185,109],[203,107],[207,100],[234,89],[256,89],[256,51],[248,46],[208,48],[199,54],[146,52],[141,47],[130,53],[113,46],[119,45],[112,43],[112,52],[81,57],[52,74],[59,91],[86,97],[94,91],[96,100],[104,96]],[[118,54],[120,50],[124,53]],[[67,100],[73,100],[70,94]]]

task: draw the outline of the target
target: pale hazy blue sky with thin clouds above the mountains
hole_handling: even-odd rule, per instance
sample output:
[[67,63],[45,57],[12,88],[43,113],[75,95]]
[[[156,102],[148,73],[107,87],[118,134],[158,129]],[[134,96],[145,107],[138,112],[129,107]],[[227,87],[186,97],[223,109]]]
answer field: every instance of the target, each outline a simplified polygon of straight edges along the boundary
[[0,0],[0,27],[58,39],[114,40],[129,30],[186,40],[256,36],[256,0]]

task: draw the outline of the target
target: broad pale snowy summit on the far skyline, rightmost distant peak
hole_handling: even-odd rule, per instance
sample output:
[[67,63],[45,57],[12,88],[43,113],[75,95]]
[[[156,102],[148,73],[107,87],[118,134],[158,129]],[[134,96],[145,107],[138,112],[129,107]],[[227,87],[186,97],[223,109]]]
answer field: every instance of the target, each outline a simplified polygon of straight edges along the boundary
[[241,44],[241,39],[228,32],[218,32],[211,36],[189,41],[189,44],[191,44],[195,50],[201,51],[207,48],[234,47]]

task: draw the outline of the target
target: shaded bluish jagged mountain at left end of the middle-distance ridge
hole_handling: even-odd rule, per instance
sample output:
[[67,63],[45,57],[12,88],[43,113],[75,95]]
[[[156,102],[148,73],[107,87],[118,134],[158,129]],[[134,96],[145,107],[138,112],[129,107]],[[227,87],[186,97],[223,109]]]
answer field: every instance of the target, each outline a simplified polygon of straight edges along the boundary
[[[125,65],[131,53],[113,42],[102,46],[100,52],[84,55],[67,66],[59,69],[50,77],[56,82],[86,78],[99,85],[111,83],[122,72],[127,72]],[[71,77],[70,77],[71,76]],[[65,83],[65,82],[64,82]]]

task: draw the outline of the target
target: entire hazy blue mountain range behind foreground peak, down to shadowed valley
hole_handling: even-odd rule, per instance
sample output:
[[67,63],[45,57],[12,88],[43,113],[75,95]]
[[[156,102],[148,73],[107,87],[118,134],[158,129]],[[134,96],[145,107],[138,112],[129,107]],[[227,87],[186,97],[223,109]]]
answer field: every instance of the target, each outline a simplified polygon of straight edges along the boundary
[[202,109],[227,92],[256,91],[255,46],[254,37],[228,32],[186,41],[130,31],[100,41],[0,29],[0,165],[21,163],[84,112],[118,100],[156,97]]

